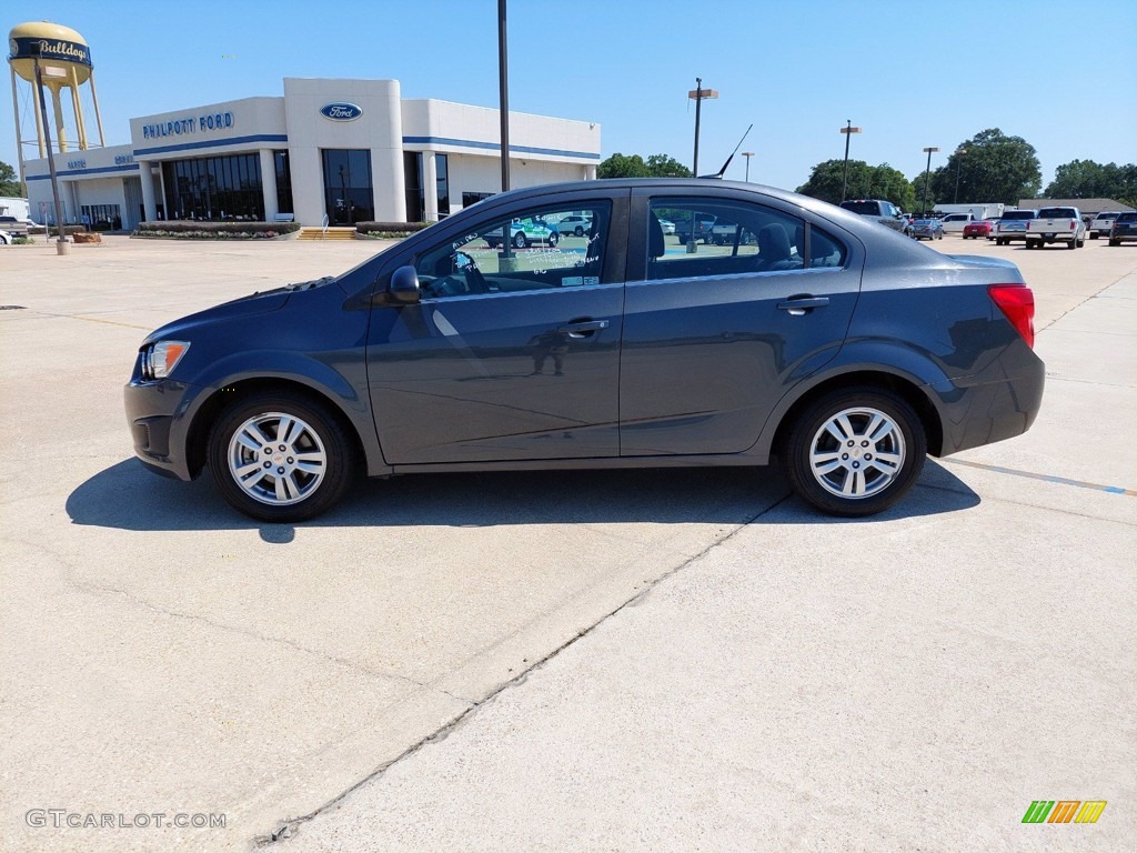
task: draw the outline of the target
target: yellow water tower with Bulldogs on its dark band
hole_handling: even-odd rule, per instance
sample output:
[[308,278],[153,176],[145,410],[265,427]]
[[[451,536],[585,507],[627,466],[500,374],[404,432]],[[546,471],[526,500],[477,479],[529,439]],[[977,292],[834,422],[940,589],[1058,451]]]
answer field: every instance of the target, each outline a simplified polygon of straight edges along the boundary
[[99,98],[94,92],[94,66],[91,65],[91,49],[86,40],[68,26],[47,20],[17,24],[8,33],[8,65],[11,67],[11,101],[16,110],[16,148],[19,151],[19,180],[24,180],[24,141],[20,139],[19,99],[16,77],[26,80],[32,86],[28,108],[35,114],[35,133],[40,157],[47,157],[44,127],[40,117],[39,93],[35,91],[35,66],[32,59],[33,45],[39,47],[40,77],[51,92],[51,106],[56,116],[56,143],[60,154],[67,151],[67,129],[64,124],[63,91],[70,96],[74,127],[80,150],[86,150],[86,124],[83,121],[83,105],[80,86],[89,83],[94,102],[94,118],[99,126],[99,144],[102,138],[102,117],[99,115]]

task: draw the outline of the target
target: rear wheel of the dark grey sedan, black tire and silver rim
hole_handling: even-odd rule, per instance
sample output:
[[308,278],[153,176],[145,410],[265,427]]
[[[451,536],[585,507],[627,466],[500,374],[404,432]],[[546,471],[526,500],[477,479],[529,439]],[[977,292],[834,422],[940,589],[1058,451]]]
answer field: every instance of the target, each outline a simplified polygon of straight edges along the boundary
[[[852,433],[837,430],[853,447],[827,430],[840,416]],[[927,454],[923,424],[912,406],[890,391],[850,388],[828,394],[802,412],[786,437],[781,463],[794,491],[806,503],[830,515],[857,517],[887,510],[904,497],[920,477]],[[825,458],[829,455],[831,459]],[[881,464],[886,455],[887,466]],[[831,471],[819,470],[830,463]],[[841,494],[857,483],[861,496]]]

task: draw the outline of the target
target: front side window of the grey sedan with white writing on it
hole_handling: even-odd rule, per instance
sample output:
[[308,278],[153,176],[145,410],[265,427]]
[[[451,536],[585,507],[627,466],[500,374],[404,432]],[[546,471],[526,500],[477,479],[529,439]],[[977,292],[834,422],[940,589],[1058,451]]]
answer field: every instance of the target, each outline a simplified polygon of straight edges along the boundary
[[428,299],[600,283],[611,204],[514,212],[415,258]]

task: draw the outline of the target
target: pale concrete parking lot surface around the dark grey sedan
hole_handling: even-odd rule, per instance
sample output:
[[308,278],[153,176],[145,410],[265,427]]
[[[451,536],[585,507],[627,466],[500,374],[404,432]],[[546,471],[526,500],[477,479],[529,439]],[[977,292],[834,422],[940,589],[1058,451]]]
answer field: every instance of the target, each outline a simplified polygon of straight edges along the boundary
[[889,513],[470,474],[296,528],[144,472],[122,386],[151,328],[375,243],[0,248],[0,850],[1129,848],[1137,247],[935,248],[1020,265],[1047,391]]

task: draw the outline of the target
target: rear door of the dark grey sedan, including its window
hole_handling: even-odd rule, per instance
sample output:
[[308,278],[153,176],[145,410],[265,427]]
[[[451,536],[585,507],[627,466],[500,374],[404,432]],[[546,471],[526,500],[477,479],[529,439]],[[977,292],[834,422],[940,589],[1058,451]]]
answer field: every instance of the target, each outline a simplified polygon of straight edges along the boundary
[[[623,456],[746,450],[782,396],[841,347],[861,288],[860,241],[761,199],[633,191]],[[700,214],[733,223],[733,239],[684,246],[656,224],[681,231]]]

